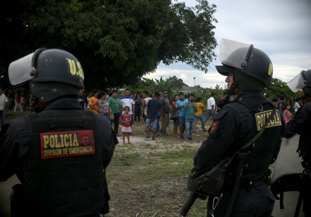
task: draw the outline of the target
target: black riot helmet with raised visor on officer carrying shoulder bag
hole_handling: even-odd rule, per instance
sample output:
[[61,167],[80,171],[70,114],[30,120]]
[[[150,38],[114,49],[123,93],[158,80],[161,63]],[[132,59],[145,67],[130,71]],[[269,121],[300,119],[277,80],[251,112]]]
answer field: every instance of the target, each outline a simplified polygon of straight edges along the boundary
[[273,74],[271,60],[253,45],[222,39],[220,61],[223,65],[216,66],[220,74],[228,76],[233,73],[231,87],[242,91],[262,91],[270,86]]

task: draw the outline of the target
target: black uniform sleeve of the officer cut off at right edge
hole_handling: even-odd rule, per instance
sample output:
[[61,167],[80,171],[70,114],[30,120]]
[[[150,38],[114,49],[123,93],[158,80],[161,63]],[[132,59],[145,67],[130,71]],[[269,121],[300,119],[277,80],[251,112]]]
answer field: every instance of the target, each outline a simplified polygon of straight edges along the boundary
[[286,123],[285,138],[290,138],[296,133],[311,137],[311,102],[303,104],[294,114],[292,119]]

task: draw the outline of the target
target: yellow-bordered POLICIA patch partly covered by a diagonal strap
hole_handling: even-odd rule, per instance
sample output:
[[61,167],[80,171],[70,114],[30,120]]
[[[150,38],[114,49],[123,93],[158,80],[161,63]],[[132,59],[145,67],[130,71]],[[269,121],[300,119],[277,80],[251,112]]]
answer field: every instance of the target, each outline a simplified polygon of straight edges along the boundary
[[[271,113],[272,113],[272,110],[267,110],[267,111],[259,112],[255,114],[257,131],[260,131],[262,129],[263,125],[265,125]],[[279,112],[276,112],[274,114],[274,117],[272,117],[270,122],[267,124],[266,128],[273,127],[273,126],[282,126],[281,116]]]

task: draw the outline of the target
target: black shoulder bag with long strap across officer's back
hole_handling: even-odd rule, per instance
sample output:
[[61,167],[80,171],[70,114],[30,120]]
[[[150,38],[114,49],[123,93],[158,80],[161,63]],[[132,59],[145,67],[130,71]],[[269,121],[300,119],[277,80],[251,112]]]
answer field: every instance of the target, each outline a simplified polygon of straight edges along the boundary
[[195,171],[195,168],[192,168],[190,175],[188,177],[188,190],[193,191],[204,197],[216,195],[220,192],[224,184],[226,168],[229,166],[234,156],[244,148],[247,148],[250,144],[258,139],[258,137],[263,133],[267,124],[270,122],[272,117],[275,114],[276,109],[273,108],[272,113],[270,114],[267,122],[262,129],[251,139],[249,140],[242,148],[240,148],[234,155],[230,158],[227,157],[221,160],[216,166],[212,166],[201,171]]

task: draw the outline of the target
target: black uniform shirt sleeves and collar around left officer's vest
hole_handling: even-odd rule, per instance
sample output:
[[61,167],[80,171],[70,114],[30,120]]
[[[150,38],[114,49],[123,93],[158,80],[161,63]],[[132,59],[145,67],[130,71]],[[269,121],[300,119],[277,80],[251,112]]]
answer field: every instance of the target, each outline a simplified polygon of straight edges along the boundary
[[[89,111],[91,112],[91,111]],[[77,99],[62,98],[52,102],[42,112],[43,115],[82,114],[83,110]],[[111,126],[106,118],[95,115],[100,130],[101,143],[103,145],[103,166],[106,168],[112,158],[114,145],[117,144],[116,137],[111,133]],[[95,124],[95,123],[94,123]],[[16,126],[20,126],[17,131]],[[17,118],[8,126],[0,137],[0,181],[6,181],[16,173],[23,180],[23,174],[28,157],[29,131],[25,117]],[[114,137],[114,138],[112,138]]]

